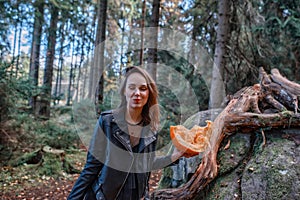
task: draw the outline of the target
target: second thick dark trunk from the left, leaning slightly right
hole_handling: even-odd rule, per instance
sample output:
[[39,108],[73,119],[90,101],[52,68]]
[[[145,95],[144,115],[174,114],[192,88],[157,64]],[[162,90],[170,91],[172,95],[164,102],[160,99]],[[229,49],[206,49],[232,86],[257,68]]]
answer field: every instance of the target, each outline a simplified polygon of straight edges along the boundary
[[50,6],[51,20],[49,27],[48,45],[47,45],[47,55],[46,64],[44,70],[44,94],[41,97],[41,105],[39,114],[41,117],[49,119],[50,118],[50,105],[51,105],[51,89],[52,89],[52,77],[53,77],[53,63],[55,57],[55,44],[56,44],[56,31],[58,22],[58,9],[54,6]]

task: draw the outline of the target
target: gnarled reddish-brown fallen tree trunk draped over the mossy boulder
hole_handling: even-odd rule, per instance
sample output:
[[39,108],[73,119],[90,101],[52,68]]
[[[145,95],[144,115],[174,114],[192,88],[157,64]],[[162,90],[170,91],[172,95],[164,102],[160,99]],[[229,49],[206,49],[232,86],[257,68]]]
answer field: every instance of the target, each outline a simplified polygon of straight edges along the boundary
[[217,176],[217,153],[226,134],[300,126],[300,85],[287,80],[276,69],[267,75],[260,68],[259,77],[259,84],[237,92],[214,120],[211,148],[190,180],[179,188],[156,190],[151,199],[193,199]]

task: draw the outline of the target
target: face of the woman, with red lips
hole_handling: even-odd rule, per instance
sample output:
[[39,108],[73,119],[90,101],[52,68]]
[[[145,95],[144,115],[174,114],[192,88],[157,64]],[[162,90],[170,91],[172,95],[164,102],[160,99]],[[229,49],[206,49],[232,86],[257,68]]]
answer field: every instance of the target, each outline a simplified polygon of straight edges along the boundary
[[149,97],[146,79],[137,72],[130,74],[126,81],[124,95],[128,108],[143,108]]

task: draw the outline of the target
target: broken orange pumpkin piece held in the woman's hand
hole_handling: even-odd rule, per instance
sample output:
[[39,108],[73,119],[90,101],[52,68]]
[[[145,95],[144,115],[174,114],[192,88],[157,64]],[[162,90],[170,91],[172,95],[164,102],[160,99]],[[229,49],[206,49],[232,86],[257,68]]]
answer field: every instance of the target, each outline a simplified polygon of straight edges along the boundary
[[183,156],[192,157],[207,149],[213,122],[206,120],[206,123],[204,127],[195,125],[190,130],[182,125],[170,126],[171,140],[177,149],[185,152]]

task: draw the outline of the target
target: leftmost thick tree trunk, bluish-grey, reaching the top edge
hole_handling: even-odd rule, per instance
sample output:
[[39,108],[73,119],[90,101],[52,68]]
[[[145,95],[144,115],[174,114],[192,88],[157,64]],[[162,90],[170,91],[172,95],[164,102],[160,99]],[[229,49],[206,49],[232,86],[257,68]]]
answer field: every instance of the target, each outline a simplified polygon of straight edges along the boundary
[[[34,14],[32,44],[31,44],[31,53],[30,53],[29,79],[31,80],[31,83],[34,86],[34,88],[37,88],[38,79],[39,79],[42,28],[44,22],[44,2],[37,1],[34,4],[34,6],[36,9]],[[37,112],[36,101],[37,101],[37,94],[33,94],[29,100],[29,105],[31,106],[33,113]]]

